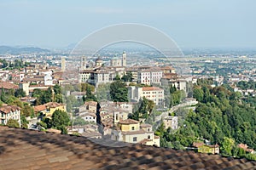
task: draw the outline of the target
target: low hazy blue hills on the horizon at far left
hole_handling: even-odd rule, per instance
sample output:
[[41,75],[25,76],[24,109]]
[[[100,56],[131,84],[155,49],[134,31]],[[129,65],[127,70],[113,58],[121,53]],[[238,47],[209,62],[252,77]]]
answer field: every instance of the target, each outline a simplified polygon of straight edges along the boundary
[[13,48],[9,46],[0,46],[0,54],[28,54],[28,53],[49,53],[49,49],[44,48]]

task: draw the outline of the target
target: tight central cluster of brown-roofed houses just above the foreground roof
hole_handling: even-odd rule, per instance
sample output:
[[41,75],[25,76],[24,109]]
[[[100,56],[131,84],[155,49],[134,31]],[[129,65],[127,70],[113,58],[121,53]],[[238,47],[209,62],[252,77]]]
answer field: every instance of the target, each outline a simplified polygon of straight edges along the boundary
[[[133,105],[133,103],[106,101],[102,102],[98,108],[97,102],[84,102],[76,115],[81,116],[90,124],[75,126],[70,129],[70,133],[76,131],[90,138],[108,138],[122,142],[160,146],[160,138],[154,135],[152,125],[128,118],[128,115],[132,113]],[[88,131],[92,129],[90,126],[98,128]]]

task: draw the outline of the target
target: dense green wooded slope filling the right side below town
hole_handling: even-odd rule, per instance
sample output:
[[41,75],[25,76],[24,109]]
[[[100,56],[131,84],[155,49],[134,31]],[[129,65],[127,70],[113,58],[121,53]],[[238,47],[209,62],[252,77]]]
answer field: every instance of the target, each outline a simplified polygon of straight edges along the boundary
[[[255,105],[248,104],[246,99],[241,99],[240,93],[225,86],[211,88],[211,83],[200,80],[199,85],[195,85],[193,94],[199,104],[195,111],[189,111],[183,126],[175,133],[171,129],[158,128],[156,134],[161,137],[161,145],[178,149],[202,138],[220,144],[221,153],[227,156],[243,156],[236,148],[240,143],[256,149]],[[181,145],[175,147],[176,141]]]

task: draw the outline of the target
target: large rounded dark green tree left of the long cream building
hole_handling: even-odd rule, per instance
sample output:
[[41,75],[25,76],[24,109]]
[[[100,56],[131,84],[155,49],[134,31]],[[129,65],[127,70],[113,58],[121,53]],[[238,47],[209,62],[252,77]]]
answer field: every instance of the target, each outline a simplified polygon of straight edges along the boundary
[[125,83],[120,80],[114,81],[110,84],[110,97],[114,102],[127,102],[128,89]]

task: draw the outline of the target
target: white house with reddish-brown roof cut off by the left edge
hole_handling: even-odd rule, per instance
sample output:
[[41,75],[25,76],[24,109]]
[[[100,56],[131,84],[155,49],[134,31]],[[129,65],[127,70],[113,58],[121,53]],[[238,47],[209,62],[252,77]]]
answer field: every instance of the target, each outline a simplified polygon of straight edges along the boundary
[[15,105],[5,105],[0,107],[0,123],[6,125],[9,119],[14,119],[20,125],[20,107]]

